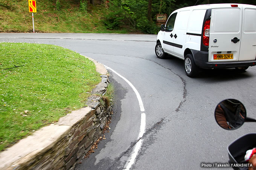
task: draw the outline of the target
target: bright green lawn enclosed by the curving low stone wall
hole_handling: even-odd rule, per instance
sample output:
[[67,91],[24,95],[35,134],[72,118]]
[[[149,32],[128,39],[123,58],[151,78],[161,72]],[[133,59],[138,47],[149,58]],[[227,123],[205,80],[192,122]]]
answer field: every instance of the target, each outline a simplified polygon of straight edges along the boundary
[[0,151],[84,107],[99,82],[94,63],[74,51],[0,43]]

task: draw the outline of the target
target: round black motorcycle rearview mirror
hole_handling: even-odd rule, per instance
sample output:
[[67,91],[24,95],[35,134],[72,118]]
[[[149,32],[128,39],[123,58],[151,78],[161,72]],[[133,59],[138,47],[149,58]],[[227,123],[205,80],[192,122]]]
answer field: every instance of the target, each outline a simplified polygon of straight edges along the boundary
[[215,120],[224,129],[238,129],[247,120],[245,107],[236,99],[221,101],[215,108]]

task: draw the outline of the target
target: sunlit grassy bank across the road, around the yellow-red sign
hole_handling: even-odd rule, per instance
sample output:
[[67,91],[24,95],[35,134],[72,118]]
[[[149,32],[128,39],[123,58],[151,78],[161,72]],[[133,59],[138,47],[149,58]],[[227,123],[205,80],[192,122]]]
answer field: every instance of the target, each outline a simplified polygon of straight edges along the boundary
[[[88,12],[79,10],[79,1],[37,0],[35,32],[45,33],[130,33],[134,30],[108,30],[102,22],[108,8],[88,4]],[[32,14],[27,0],[0,0],[0,32],[33,32]]]

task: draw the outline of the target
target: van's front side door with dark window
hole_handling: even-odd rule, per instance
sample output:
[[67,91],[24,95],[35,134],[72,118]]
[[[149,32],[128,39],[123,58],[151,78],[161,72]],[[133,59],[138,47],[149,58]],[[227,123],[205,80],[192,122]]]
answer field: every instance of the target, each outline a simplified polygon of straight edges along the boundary
[[169,18],[168,21],[165,24],[165,32],[163,33],[163,44],[162,47],[163,49],[168,52],[173,54],[173,30],[174,30],[174,22],[175,18],[177,16],[177,12],[173,13]]

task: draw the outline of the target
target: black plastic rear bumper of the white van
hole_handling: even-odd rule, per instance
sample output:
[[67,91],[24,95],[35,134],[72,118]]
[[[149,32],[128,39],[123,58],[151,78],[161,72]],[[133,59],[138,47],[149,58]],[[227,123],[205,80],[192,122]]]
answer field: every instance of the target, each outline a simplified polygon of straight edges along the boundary
[[235,68],[235,67],[247,67],[255,66],[256,60],[249,61],[236,61],[236,62],[208,62],[208,52],[191,50],[194,56],[195,65],[200,68]]

